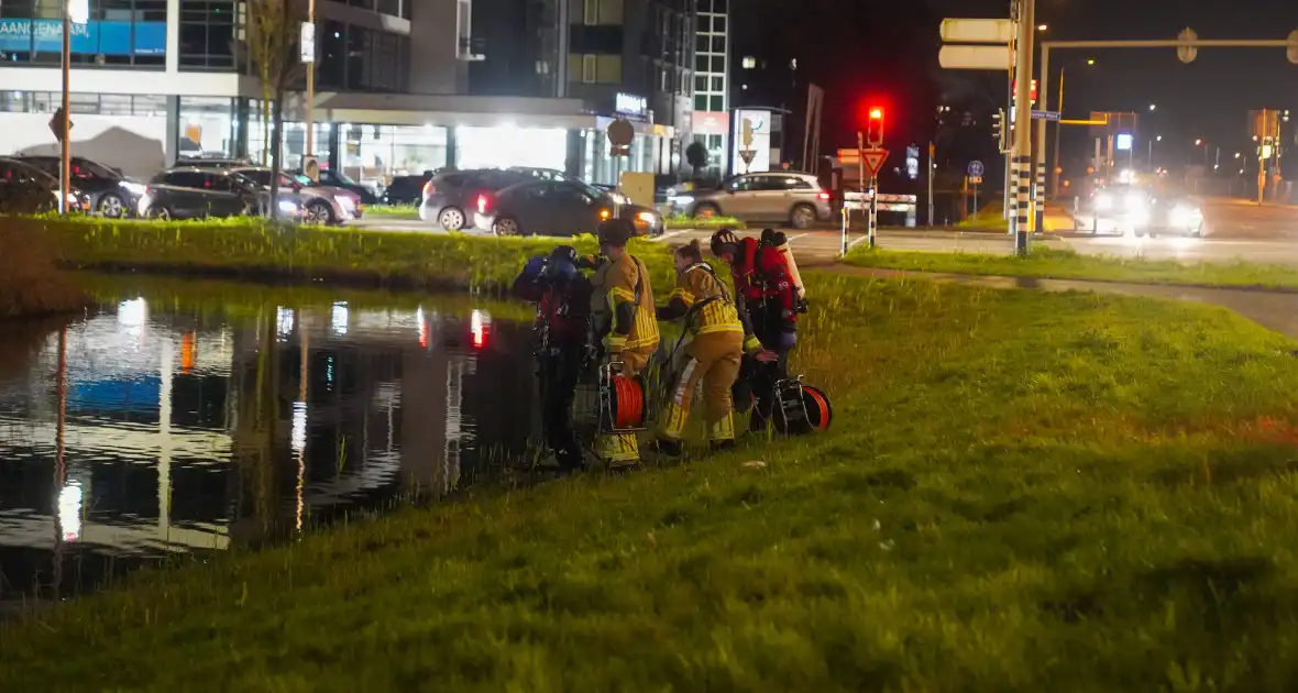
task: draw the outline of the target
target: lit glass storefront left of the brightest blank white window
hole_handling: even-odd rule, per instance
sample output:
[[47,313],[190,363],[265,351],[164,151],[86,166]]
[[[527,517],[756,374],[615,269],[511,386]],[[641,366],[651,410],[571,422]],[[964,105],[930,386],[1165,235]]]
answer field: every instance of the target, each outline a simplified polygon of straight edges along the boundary
[[445,127],[360,123],[339,127],[339,166],[361,184],[382,188],[393,176],[419,175],[447,165]]

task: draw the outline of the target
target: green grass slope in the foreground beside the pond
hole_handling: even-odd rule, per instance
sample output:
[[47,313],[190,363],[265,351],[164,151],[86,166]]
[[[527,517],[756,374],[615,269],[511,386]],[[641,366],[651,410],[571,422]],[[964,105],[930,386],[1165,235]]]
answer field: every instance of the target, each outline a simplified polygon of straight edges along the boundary
[[807,282],[829,433],[139,574],[0,627],[0,689],[1298,684],[1294,343],[1199,305]]

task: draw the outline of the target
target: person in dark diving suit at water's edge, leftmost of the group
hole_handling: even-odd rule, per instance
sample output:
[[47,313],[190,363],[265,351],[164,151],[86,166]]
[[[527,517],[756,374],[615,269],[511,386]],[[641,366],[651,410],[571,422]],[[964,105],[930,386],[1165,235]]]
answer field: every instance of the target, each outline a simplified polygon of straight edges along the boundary
[[514,296],[536,304],[536,374],[541,388],[541,430],[559,468],[584,467],[572,430],[572,400],[585,367],[591,283],[578,271],[576,250],[559,245],[528,261],[514,279]]

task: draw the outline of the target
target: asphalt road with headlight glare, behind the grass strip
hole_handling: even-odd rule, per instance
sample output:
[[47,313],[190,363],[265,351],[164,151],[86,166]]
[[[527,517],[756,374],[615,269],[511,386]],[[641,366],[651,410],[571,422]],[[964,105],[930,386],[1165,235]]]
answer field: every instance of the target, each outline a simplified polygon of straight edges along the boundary
[[[1035,243],[1051,248],[1072,248],[1085,254],[1105,254],[1119,257],[1146,257],[1157,260],[1177,260],[1182,262],[1232,261],[1264,262],[1298,266],[1298,206],[1266,205],[1238,200],[1208,200],[1203,208],[1207,236],[1132,239],[1101,236],[1092,237],[1072,232],[1072,221],[1067,214],[1050,214],[1046,227],[1050,230]],[[371,218],[363,219],[360,228],[383,228],[393,231],[436,232],[418,219]],[[828,260],[837,256],[842,243],[839,231],[783,230],[798,253],[798,257]],[[749,231],[755,235],[755,231]],[[688,243],[698,239],[704,243],[711,231],[670,231],[662,243]],[[849,234],[849,247],[866,241],[864,234]],[[879,231],[877,247],[892,250],[998,253],[1014,252],[1014,241],[1003,234],[957,232],[957,231],[918,231],[889,230]]]

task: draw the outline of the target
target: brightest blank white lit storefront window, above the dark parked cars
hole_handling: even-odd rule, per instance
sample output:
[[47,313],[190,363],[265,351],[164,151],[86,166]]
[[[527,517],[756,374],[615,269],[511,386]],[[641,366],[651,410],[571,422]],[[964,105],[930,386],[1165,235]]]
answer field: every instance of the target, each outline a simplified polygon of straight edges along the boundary
[[457,127],[456,147],[459,169],[567,167],[567,130],[562,127]]

